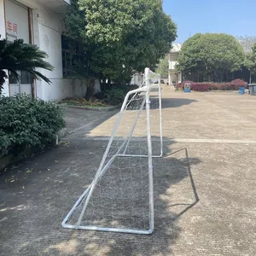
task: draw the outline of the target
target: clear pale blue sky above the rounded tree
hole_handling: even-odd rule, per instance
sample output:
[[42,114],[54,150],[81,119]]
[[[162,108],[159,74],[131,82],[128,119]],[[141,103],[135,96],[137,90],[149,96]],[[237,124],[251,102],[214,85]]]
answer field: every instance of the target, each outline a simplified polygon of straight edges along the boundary
[[201,32],[256,36],[256,0],[164,0],[177,24],[176,43]]

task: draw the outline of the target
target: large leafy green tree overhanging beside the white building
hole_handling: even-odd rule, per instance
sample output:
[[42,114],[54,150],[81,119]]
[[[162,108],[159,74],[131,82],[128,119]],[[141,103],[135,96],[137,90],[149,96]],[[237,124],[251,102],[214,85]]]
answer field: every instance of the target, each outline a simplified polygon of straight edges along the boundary
[[65,20],[67,33],[84,44],[84,69],[103,84],[154,68],[177,37],[161,1],[73,0]]

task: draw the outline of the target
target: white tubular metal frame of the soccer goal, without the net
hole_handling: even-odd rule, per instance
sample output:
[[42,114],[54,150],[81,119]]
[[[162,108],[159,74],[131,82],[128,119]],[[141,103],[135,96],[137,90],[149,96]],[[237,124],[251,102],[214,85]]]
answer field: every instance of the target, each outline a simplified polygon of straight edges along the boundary
[[[152,153],[152,141],[151,141],[151,128],[150,128],[150,91],[151,90],[157,90],[158,96],[159,96],[159,114],[160,114],[160,154],[153,154]],[[132,125],[130,134],[128,137],[125,137],[124,142],[119,147],[119,150],[113,156],[108,159],[107,163],[107,157],[109,153],[109,149],[111,148],[111,145],[113,143],[113,138],[116,134],[116,131],[119,127],[119,122],[122,119],[122,115],[127,108],[127,102],[132,101],[133,96],[137,94],[143,94],[143,102],[138,109],[137,117]],[[132,133],[135,129],[135,126],[137,124],[137,119],[139,119],[141,112],[143,111],[143,108],[146,108],[146,116],[147,116],[147,146],[148,146],[148,154],[126,154],[126,148],[128,147],[129,143],[131,143],[131,137]],[[125,148],[125,149],[124,149]],[[154,181],[153,181],[153,158],[154,157],[161,157],[163,154],[163,138],[162,138],[162,115],[161,115],[161,88],[160,88],[160,75],[153,73],[149,70],[149,68],[145,69],[144,73],[144,80],[143,84],[139,86],[136,90],[131,90],[127,93],[125,96],[125,100],[122,104],[122,107],[119,111],[118,119],[114,125],[112,136],[109,139],[108,146],[105,150],[105,153],[103,154],[102,161],[100,163],[99,168],[97,169],[96,175],[93,179],[93,181],[90,183],[90,186],[85,189],[84,193],[79,197],[79,200],[76,201],[70,212],[68,212],[66,218],[62,221],[62,227],[67,229],[74,229],[74,230],[99,230],[99,231],[109,231],[109,232],[120,232],[120,233],[131,233],[131,234],[140,234],[140,235],[149,235],[152,234],[154,230]],[[113,163],[113,160],[117,157],[147,157],[148,158],[148,230],[140,230],[140,229],[129,229],[129,228],[113,228],[113,227],[105,227],[100,225],[84,225],[81,224],[82,219],[84,217],[84,212],[86,211],[86,208],[88,207],[88,204],[90,202],[91,195],[96,188],[96,183],[98,183],[105,172],[108,172],[108,167],[111,166]],[[80,204],[84,203],[84,206],[82,207],[82,210],[79,214],[79,219],[76,224],[68,224],[69,218],[71,218],[73,212],[76,210],[77,207],[80,206]]]

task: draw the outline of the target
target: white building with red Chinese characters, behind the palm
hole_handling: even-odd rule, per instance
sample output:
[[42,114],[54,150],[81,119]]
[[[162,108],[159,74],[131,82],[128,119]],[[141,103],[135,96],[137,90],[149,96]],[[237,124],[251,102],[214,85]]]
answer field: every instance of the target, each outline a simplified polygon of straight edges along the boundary
[[20,81],[9,74],[3,95],[33,93],[46,101],[85,95],[85,80],[68,77],[73,59],[65,47],[63,15],[69,4],[70,0],[0,0],[1,38],[9,41],[22,38],[25,43],[37,44],[55,67],[53,72],[39,70],[52,84],[32,81],[26,72],[20,73]]

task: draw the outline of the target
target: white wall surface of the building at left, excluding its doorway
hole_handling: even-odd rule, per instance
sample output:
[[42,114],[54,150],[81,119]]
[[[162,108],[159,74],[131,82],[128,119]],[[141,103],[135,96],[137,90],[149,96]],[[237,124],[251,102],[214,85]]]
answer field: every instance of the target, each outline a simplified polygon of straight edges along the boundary
[[[0,0],[0,34],[5,37],[6,22],[4,20],[4,0]],[[62,54],[61,54],[61,33],[63,32],[62,15],[47,9],[34,0],[19,0],[20,3],[32,8],[32,34],[33,44],[37,44],[49,57],[51,65],[55,67],[53,72],[41,69],[51,80],[47,84],[42,80],[35,81],[35,95],[46,101],[63,99],[71,96],[84,96],[86,83],[84,79],[63,79],[62,76]],[[96,90],[100,90],[99,82],[96,82]],[[9,96],[9,82],[4,86],[4,95]]]

